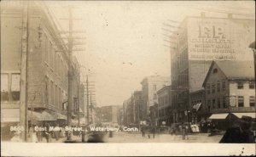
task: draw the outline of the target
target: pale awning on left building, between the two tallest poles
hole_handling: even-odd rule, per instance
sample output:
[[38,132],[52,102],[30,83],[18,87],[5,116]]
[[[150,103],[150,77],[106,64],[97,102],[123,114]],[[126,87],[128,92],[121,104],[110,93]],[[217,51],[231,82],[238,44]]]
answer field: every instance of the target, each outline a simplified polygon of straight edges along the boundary
[[55,121],[55,117],[50,115],[47,111],[36,112],[36,111],[27,111],[28,121]]

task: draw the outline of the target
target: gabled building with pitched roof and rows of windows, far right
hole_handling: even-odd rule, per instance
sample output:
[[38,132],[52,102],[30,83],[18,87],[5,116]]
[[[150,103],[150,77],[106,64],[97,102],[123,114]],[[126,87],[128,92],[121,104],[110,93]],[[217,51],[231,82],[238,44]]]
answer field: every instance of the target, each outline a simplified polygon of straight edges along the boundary
[[253,71],[253,62],[213,61],[203,83],[206,104],[202,106],[201,114],[210,113],[212,119],[220,120],[229,113],[239,118],[241,115],[255,118]]

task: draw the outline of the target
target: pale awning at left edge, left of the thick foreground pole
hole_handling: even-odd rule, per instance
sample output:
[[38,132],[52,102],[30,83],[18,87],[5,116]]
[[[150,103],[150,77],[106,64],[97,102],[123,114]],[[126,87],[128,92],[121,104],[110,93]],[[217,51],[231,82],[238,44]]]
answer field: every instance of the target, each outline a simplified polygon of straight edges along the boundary
[[20,109],[1,109],[1,122],[19,122]]

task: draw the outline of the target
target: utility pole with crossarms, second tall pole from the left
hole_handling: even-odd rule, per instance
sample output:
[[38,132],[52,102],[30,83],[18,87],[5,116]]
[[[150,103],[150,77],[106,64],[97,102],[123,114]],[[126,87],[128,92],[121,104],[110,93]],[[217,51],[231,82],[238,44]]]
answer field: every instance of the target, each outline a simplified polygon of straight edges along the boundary
[[[72,8],[68,8],[69,36],[68,36],[68,103],[67,103],[67,125],[72,123],[73,108],[73,14]],[[71,140],[71,135],[67,136],[67,140]]]

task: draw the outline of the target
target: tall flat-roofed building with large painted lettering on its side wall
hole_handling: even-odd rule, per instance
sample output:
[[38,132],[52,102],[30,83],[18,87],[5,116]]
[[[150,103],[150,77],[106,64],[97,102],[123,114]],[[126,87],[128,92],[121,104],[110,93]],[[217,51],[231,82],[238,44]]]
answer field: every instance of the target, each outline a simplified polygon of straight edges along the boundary
[[[212,60],[252,60],[248,45],[255,41],[255,20],[186,17],[172,39],[172,90],[177,121],[187,121],[190,93],[202,89]],[[172,43],[173,44],[173,43]]]

